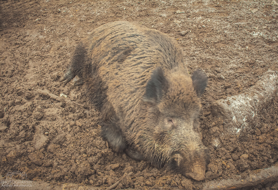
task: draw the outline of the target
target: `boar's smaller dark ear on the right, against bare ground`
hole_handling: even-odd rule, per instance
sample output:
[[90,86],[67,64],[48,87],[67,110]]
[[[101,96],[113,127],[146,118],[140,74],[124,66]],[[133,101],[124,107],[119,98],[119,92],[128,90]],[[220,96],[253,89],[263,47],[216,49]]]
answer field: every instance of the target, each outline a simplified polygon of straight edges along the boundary
[[194,71],[192,75],[192,82],[197,96],[202,96],[205,87],[207,86],[207,81],[207,76],[200,69]]

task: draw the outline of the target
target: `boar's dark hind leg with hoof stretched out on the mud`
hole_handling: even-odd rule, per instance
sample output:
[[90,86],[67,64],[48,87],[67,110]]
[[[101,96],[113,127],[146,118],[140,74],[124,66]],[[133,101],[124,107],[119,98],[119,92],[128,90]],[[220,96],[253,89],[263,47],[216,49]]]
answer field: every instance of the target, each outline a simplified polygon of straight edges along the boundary
[[84,43],[81,41],[75,48],[74,54],[71,58],[68,69],[63,77],[61,77],[60,82],[67,83],[71,81],[75,76],[78,76],[80,79],[75,81],[75,85],[83,84],[82,73],[86,68],[86,48]]

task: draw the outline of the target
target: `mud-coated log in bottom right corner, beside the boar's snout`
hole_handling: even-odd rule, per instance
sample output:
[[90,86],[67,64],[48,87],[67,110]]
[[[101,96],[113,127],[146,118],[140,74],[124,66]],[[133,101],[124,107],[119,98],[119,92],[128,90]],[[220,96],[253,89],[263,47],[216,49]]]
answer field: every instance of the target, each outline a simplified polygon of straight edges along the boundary
[[244,179],[223,179],[206,182],[202,190],[232,190],[272,181],[278,181],[278,163],[267,169],[250,171],[249,176]]

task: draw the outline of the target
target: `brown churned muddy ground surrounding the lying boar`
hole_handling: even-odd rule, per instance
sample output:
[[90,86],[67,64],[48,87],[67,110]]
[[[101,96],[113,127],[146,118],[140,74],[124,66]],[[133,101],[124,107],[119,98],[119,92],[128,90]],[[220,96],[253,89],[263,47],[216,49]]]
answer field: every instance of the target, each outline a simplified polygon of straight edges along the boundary
[[[189,71],[207,73],[200,115],[211,153],[207,181],[244,176],[277,162],[278,99],[239,137],[222,137],[223,121],[210,114],[212,102],[243,92],[268,69],[278,70],[278,6],[272,1],[9,0],[0,1],[0,8],[1,175],[21,171],[29,180],[100,189],[121,176],[116,189],[201,186],[166,166],[156,169],[111,151],[100,137],[100,113],[82,86],[58,81],[78,41],[117,20],[136,21],[175,38]],[[54,100],[38,89],[66,94],[71,101]],[[278,182],[245,189],[278,189]]]

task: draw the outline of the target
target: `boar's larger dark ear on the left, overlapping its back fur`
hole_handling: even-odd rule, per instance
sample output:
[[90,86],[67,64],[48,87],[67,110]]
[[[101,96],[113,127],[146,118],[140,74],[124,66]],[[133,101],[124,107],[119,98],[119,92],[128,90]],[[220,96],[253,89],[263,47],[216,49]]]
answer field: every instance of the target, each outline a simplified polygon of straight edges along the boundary
[[143,97],[145,102],[156,104],[162,98],[163,91],[166,90],[167,81],[161,68],[155,69],[147,83]]

